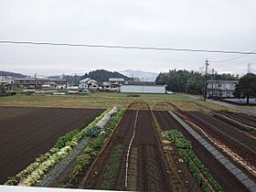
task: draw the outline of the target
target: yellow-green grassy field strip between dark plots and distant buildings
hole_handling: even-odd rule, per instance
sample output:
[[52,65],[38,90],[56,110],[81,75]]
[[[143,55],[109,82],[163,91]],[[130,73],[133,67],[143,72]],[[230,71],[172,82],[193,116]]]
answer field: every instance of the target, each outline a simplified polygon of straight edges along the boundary
[[92,108],[107,109],[117,106],[126,109],[129,104],[137,101],[146,101],[151,109],[157,108],[161,101],[170,101],[184,111],[197,111],[195,104],[204,106],[211,110],[226,110],[236,112],[227,107],[223,107],[210,102],[199,101],[187,97],[185,94],[128,94],[97,92],[85,95],[21,95],[7,96],[0,98],[0,106],[31,106],[31,107],[63,107],[63,108]]

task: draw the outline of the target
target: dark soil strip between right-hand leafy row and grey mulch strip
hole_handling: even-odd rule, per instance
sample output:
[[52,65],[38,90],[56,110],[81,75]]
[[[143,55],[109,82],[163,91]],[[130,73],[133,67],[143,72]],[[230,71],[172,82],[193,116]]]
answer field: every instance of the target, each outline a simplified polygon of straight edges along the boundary
[[225,191],[247,191],[240,181],[221,165],[219,161],[214,158],[208,150],[200,144],[195,137],[184,129],[184,127],[177,123],[176,120],[168,112],[155,112],[155,116],[160,123],[163,131],[176,129],[183,133],[186,138],[193,144],[193,151],[200,159],[200,161],[208,168],[211,176],[213,176]]

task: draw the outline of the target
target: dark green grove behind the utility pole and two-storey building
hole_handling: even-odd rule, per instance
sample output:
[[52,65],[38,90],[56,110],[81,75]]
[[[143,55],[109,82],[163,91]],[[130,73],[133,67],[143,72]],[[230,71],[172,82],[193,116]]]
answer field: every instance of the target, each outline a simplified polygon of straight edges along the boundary
[[[172,69],[169,72],[160,73],[156,77],[155,83],[166,85],[168,91],[202,94],[204,80],[204,74],[197,71]],[[208,80],[238,80],[238,77],[226,73],[214,76],[208,74]]]

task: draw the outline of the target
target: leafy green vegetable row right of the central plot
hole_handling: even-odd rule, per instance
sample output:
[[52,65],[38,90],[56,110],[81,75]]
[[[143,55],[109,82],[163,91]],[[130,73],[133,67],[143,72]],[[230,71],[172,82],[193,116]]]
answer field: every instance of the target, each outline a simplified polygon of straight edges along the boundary
[[205,191],[223,191],[219,183],[209,174],[208,169],[197,158],[197,155],[192,150],[192,144],[185,136],[173,129],[162,133],[162,136],[176,145],[178,154],[187,163],[187,168],[192,176]]

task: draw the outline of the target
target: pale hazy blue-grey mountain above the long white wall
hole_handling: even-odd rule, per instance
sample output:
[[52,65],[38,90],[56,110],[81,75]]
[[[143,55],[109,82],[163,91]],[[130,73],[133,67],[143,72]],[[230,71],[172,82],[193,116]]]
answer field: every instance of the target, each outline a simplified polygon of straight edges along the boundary
[[145,72],[142,70],[130,70],[130,69],[120,71],[120,73],[122,73],[123,75],[125,75],[127,77],[138,78],[138,79],[144,80],[144,81],[155,81],[155,79],[158,75],[155,72]]

